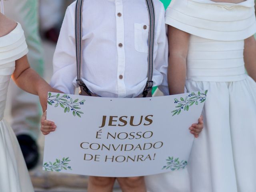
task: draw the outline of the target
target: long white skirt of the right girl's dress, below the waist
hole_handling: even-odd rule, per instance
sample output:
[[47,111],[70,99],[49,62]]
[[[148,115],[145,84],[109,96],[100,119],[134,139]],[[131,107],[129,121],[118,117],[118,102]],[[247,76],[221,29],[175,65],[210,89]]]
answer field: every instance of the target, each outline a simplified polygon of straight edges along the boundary
[[256,82],[187,80],[186,89],[208,90],[204,129],[188,166],[146,176],[148,192],[256,192]]

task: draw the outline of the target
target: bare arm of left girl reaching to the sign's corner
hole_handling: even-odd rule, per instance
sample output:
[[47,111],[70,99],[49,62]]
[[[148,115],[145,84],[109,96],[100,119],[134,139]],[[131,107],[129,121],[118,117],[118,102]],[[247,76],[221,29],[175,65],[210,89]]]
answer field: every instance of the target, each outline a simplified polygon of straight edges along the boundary
[[60,92],[59,90],[52,88],[32,68],[30,68],[27,56],[23,56],[16,60],[12,79],[22,90],[39,96],[43,111],[46,110],[47,106],[47,93]]

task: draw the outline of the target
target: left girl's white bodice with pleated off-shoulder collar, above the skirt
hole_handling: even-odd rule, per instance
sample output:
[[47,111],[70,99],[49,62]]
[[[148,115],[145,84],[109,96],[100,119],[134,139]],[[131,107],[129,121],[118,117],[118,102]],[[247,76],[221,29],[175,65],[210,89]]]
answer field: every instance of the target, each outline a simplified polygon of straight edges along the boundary
[[12,32],[0,37],[0,120],[4,116],[7,89],[15,61],[28,53],[24,31],[19,23]]

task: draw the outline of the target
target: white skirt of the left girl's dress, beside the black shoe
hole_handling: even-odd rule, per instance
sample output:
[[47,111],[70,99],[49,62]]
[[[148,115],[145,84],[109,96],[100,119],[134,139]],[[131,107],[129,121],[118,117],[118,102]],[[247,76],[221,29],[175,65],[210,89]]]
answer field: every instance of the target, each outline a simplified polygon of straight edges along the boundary
[[0,192],[34,192],[20,146],[12,128],[0,121]]

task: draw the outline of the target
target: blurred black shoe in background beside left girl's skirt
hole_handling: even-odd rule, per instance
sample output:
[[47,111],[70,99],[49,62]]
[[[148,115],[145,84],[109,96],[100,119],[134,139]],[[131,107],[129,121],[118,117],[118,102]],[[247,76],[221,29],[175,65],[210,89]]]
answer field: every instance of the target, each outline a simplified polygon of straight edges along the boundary
[[28,169],[36,166],[39,159],[38,146],[29,135],[18,135],[18,142]]

